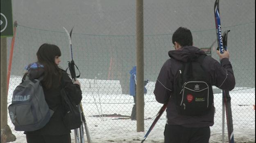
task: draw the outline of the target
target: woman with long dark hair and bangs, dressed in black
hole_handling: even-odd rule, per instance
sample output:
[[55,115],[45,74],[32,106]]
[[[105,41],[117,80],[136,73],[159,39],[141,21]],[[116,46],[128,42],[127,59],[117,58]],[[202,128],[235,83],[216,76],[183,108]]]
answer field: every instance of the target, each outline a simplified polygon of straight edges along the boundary
[[66,71],[58,66],[61,62],[61,51],[58,46],[45,43],[39,47],[36,56],[38,59],[36,68],[30,64],[25,76],[28,74],[30,79],[43,76],[41,83],[45,101],[54,114],[43,128],[24,132],[27,143],[71,143],[70,130],[62,120],[65,111],[60,91],[64,88],[68,96],[78,105],[82,100],[80,83],[78,80],[73,83]]

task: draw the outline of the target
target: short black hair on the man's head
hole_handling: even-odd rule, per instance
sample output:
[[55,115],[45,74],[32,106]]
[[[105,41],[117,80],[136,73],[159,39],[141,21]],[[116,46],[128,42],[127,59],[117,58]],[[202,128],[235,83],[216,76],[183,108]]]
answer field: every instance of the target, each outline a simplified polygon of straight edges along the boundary
[[191,31],[185,27],[179,27],[172,35],[172,43],[178,42],[181,47],[192,46],[193,37]]

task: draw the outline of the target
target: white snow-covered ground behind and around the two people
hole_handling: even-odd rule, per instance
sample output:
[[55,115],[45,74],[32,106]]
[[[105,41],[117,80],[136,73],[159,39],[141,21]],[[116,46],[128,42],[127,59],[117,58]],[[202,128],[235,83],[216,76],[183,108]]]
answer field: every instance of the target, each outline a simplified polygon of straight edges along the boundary
[[[11,93],[20,82],[20,77],[12,76],[10,80],[8,102],[11,102]],[[152,90],[154,82],[147,85],[148,94],[145,95],[145,132],[136,132],[136,121],[130,119],[112,120],[113,117],[93,117],[99,114],[130,115],[133,98],[120,94],[119,81],[80,79],[83,91],[83,108],[86,115],[88,129],[93,143],[140,143],[148,128],[154,121],[161,104],[154,100]],[[106,87],[107,86],[107,87]],[[116,93],[116,94],[114,94]],[[255,143],[255,88],[244,89],[236,87],[231,94],[234,138],[236,143]],[[222,143],[222,94],[215,94],[215,124],[211,127],[210,143]],[[147,137],[145,143],[163,143],[165,113]],[[23,132],[16,132],[8,116],[8,125],[11,127],[17,140],[13,143],[26,143]],[[227,126],[227,125],[225,125]],[[74,135],[72,143],[74,143]],[[227,127],[225,128],[227,142]],[[86,140],[86,138],[85,138]]]

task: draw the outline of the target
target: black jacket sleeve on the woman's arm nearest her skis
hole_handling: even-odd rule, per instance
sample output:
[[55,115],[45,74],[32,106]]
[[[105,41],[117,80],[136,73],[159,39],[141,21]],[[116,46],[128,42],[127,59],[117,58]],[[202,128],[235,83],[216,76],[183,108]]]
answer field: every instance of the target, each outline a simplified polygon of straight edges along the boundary
[[74,101],[76,105],[78,105],[82,100],[82,91],[79,85],[73,84],[71,78],[68,76],[66,72],[62,72],[62,85],[65,88],[68,97],[70,100]]

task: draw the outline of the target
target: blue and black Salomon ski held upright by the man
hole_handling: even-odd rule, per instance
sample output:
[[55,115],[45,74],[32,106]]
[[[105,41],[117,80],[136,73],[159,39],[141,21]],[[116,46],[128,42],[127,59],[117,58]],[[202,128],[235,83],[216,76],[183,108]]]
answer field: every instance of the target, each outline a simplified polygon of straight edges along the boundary
[[[228,36],[229,30],[225,31],[222,36],[219,3],[220,3],[220,0],[216,0],[214,4],[215,26],[217,31],[218,50],[220,50],[220,53],[223,54],[224,50],[227,50],[227,36]],[[223,97],[224,105],[226,107],[229,143],[234,143],[231,97],[229,95],[229,91],[223,90],[222,97]]]

